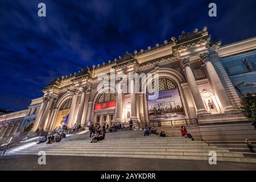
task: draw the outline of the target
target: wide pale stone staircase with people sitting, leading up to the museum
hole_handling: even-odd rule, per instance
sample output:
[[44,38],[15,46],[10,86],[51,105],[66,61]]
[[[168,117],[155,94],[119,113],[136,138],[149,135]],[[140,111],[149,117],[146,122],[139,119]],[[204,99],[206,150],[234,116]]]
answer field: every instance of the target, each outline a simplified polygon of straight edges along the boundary
[[217,153],[217,161],[256,163],[256,159],[245,158],[243,154],[232,153],[207,143],[192,141],[184,137],[158,137],[151,134],[143,137],[143,130],[118,131],[107,133],[104,140],[90,143],[88,133],[74,134],[60,143],[36,144],[28,142],[10,148],[6,155],[38,155],[45,151],[47,155],[101,156],[121,158],[159,158],[159,159],[209,159],[209,152]]

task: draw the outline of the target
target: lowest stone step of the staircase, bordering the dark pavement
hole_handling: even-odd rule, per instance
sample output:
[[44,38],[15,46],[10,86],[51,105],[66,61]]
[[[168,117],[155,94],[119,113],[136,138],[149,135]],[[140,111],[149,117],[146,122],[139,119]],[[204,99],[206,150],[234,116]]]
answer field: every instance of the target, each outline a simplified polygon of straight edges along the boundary
[[[19,155],[28,155],[26,152],[19,152]],[[38,155],[37,152],[29,155]],[[115,158],[155,158],[155,159],[183,159],[183,160],[205,160],[208,161],[208,156],[185,156],[185,155],[139,155],[139,154],[83,154],[83,153],[51,153],[51,155],[69,155],[69,156],[101,156]],[[256,159],[251,158],[232,158],[218,157],[217,161],[238,162],[238,163],[256,163]]]

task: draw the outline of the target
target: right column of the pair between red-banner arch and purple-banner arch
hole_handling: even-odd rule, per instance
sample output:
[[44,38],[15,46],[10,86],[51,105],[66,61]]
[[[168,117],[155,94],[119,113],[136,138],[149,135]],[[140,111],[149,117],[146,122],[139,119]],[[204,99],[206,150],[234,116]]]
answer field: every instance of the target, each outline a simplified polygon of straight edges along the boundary
[[131,78],[130,80],[131,84],[131,119],[133,119],[134,122],[138,121],[137,118],[137,93],[135,92],[135,80],[134,78]]

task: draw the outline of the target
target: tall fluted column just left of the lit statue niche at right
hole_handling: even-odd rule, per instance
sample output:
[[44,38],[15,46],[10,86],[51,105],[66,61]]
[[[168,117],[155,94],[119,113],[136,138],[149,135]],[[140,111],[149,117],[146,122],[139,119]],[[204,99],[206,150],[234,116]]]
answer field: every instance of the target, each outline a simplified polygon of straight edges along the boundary
[[196,114],[197,115],[209,114],[207,112],[207,110],[205,109],[203,99],[201,97],[201,94],[200,94],[199,89],[196,84],[195,76],[193,75],[193,72],[191,70],[190,63],[189,63],[189,57],[181,59],[180,62],[181,62],[181,66],[183,67],[183,70],[185,72],[185,75],[187,77],[189,89],[191,90],[193,99],[195,101],[195,105],[196,105],[196,109],[197,109]]

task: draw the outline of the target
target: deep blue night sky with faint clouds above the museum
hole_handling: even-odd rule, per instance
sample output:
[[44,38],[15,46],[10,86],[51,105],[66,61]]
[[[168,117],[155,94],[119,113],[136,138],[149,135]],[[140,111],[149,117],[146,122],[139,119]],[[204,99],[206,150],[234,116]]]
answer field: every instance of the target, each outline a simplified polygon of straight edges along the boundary
[[[38,3],[47,16],[39,18]],[[210,2],[217,17],[208,16]],[[256,1],[0,1],[0,108],[26,109],[57,76],[202,30],[222,44],[256,36]]]

